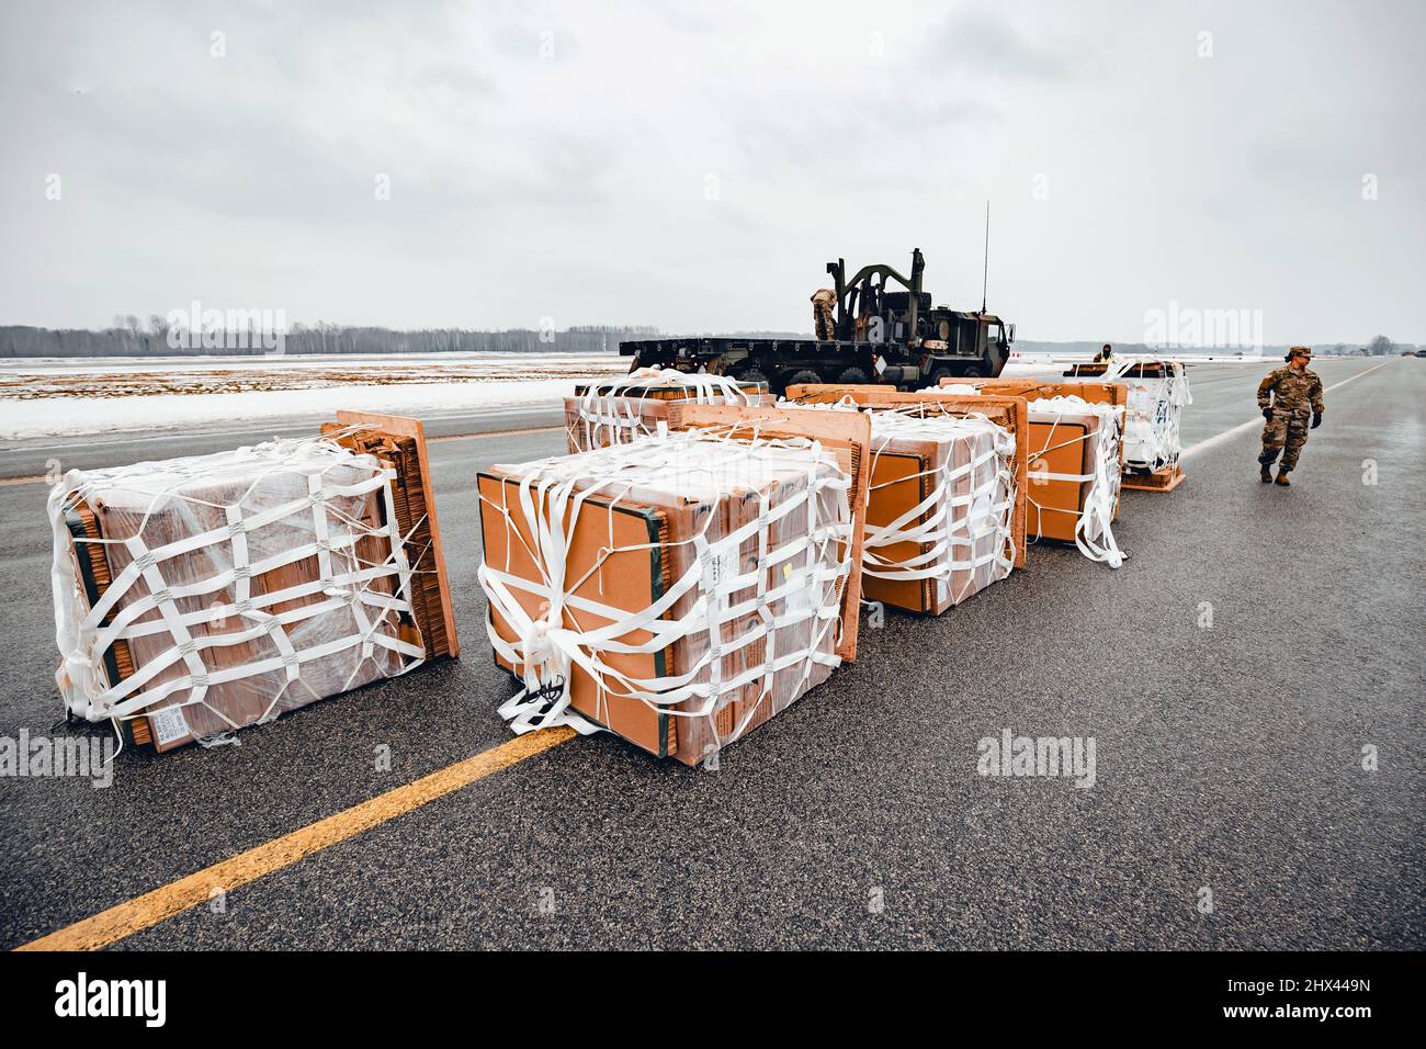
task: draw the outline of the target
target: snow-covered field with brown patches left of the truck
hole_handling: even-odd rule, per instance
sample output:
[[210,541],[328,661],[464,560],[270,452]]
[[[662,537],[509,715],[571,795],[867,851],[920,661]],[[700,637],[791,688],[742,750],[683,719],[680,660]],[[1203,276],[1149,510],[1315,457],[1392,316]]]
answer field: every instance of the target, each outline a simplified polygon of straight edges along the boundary
[[558,404],[578,380],[627,371],[590,354],[175,357],[0,361],[0,441]]

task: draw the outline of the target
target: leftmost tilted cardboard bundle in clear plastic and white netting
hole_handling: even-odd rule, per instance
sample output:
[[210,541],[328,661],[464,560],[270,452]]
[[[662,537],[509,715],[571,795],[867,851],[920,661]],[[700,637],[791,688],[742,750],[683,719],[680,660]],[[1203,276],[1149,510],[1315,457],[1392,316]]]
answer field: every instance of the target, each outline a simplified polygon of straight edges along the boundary
[[379,418],[406,431],[381,435],[395,467],[285,441],[67,474],[50,512],[71,712],[163,752],[455,655],[419,422]]

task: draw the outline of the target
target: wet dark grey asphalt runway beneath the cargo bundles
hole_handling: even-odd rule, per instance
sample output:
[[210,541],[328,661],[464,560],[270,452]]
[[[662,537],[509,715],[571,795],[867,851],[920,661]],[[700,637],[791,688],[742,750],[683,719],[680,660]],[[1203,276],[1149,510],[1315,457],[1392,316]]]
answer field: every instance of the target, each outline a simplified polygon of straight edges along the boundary
[[[1185,445],[1255,418],[1265,370],[1194,368]],[[575,738],[116,946],[1426,946],[1426,361],[1316,370],[1352,381],[1326,394],[1291,490],[1258,482],[1256,425],[1194,448],[1176,491],[1125,494],[1124,568],[1035,547],[945,617],[864,619],[856,665],[716,772]],[[509,741],[473,478],[562,447],[560,431],[432,445],[461,661],[241,746],[121,754],[106,789],[0,779],[0,945]],[[0,452],[4,472],[43,472],[46,451]],[[0,487],[11,738],[60,712],[44,495]],[[1094,785],[978,775],[977,741],[1005,729],[1092,738]]]

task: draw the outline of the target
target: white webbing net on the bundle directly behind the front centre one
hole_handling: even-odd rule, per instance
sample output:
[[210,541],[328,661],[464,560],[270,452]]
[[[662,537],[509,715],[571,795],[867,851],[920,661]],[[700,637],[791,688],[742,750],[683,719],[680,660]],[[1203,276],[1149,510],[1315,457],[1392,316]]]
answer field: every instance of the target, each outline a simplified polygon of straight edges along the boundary
[[[984,440],[988,437],[990,440]],[[873,470],[877,457],[896,440],[964,441],[970,450],[983,445],[968,462],[955,465],[947,450],[938,467],[887,484],[930,478],[930,494],[911,510],[884,525],[867,524],[861,569],[878,579],[935,579],[951,587],[955,572],[973,585],[977,569],[991,565],[991,578],[1002,579],[1015,564],[1012,532],[1015,510],[1015,437],[984,415],[928,415],[921,405],[871,412]],[[961,484],[964,481],[964,484]],[[883,488],[887,485],[873,485]],[[964,492],[957,494],[957,488]],[[868,492],[870,497],[870,492]],[[985,537],[994,538],[992,544]],[[893,559],[886,552],[900,542],[914,542],[923,552]],[[977,555],[977,548],[987,551]],[[964,588],[963,588],[964,589]],[[953,594],[958,602],[963,594]]]

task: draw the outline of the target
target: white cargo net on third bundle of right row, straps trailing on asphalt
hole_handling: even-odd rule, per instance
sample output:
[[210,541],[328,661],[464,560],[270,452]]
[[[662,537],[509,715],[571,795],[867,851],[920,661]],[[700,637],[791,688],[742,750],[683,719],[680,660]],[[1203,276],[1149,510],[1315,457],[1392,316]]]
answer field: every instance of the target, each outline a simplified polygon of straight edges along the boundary
[[[1057,448],[1070,444],[1088,441],[1089,432],[1071,434],[1068,430],[1060,431],[1060,424],[1065,417],[1097,415],[1099,427],[1097,430],[1094,447],[1094,462],[1088,474],[1051,474],[1048,464],[1040,467],[1042,457]],[[1035,501],[1037,481],[1071,481],[1074,484],[1088,482],[1084,495],[1084,508],[1078,514],[1074,528],[1074,541],[1091,561],[1102,561],[1109,568],[1124,564],[1125,554],[1114,538],[1114,507],[1119,501],[1119,427],[1124,422],[1124,405],[1091,404],[1081,397],[1042,397],[1030,401],[1031,422],[1048,422],[1050,434],[1045,437],[1045,447],[1030,454],[1030,485],[1025,501],[1034,507],[1035,534],[1041,531],[1041,521],[1045,507]]]

